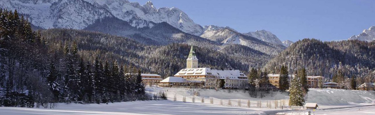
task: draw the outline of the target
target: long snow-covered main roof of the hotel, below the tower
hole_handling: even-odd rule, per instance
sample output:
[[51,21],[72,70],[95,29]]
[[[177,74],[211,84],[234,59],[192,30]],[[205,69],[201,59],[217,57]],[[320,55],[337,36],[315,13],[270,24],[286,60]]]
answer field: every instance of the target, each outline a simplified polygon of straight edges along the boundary
[[247,76],[237,69],[190,68],[181,69],[174,76],[212,75],[218,79],[247,80]]

